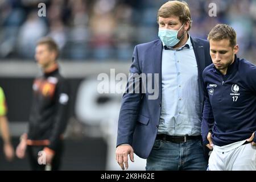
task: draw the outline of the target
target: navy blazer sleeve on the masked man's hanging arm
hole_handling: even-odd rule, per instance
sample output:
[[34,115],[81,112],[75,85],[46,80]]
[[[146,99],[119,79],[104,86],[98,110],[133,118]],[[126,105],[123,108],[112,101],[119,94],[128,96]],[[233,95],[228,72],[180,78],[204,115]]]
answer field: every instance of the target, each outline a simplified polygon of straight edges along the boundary
[[[133,52],[133,63],[130,67],[129,79],[127,81],[126,92],[122,97],[121,109],[118,119],[117,146],[123,143],[133,143],[133,133],[135,130],[139,107],[141,106],[141,68],[139,67],[138,47],[135,46]],[[139,92],[136,92],[138,91]]]

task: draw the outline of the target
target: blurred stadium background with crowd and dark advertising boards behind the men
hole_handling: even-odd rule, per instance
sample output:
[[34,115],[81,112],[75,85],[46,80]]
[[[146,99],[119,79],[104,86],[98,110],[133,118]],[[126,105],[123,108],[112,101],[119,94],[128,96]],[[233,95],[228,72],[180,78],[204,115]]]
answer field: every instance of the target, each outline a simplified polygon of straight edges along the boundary
[[[46,4],[46,17],[38,4]],[[158,38],[159,0],[0,0],[0,86],[5,91],[14,147],[27,129],[32,81],[40,73],[35,44],[51,36],[61,49],[60,70],[71,85],[69,125],[63,170],[113,170],[115,137],[122,94],[97,93],[99,73],[128,73],[136,44]],[[238,56],[256,63],[255,0],[187,0],[191,36],[206,39],[217,23],[237,31]],[[209,3],[217,16],[210,17]],[[136,161],[136,159],[135,159]],[[141,169],[144,160],[139,160]],[[7,162],[0,146],[0,170],[28,170],[27,160]]]

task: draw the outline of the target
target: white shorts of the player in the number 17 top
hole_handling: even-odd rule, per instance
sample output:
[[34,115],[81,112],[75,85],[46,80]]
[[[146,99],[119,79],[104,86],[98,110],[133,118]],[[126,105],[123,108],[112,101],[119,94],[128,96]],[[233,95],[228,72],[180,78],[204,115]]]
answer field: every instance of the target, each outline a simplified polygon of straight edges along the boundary
[[256,147],[246,140],[226,146],[213,145],[208,171],[256,171]]

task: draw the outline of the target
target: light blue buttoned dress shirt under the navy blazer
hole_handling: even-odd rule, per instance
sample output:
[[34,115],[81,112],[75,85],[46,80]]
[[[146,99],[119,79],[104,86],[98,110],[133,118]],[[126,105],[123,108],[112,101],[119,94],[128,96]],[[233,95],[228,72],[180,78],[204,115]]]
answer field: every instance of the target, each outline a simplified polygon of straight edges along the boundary
[[198,76],[190,36],[179,49],[163,48],[162,111],[158,134],[201,134]]

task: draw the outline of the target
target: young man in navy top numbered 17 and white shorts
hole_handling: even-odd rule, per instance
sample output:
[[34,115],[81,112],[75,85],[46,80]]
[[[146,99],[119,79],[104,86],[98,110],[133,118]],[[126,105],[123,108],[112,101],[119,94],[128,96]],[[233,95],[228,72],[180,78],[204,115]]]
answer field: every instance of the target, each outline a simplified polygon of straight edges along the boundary
[[256,170],[256,67],[237,57],[236,31],[217,24],[209,33],[213,64],[203,72],[204,144],[208,170]]

